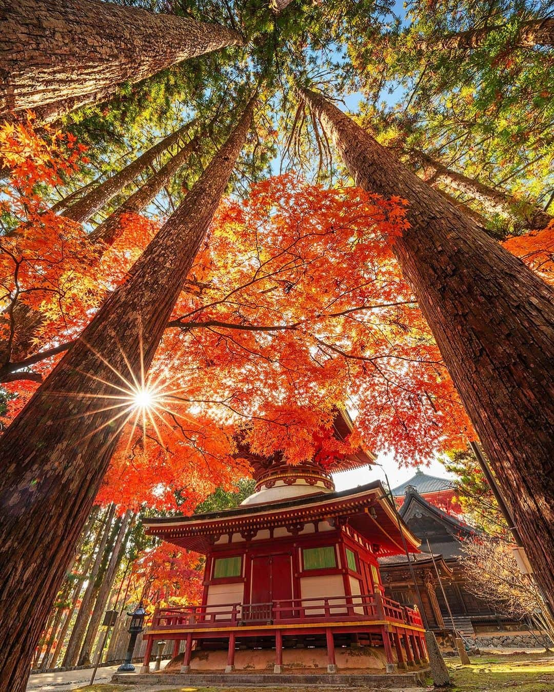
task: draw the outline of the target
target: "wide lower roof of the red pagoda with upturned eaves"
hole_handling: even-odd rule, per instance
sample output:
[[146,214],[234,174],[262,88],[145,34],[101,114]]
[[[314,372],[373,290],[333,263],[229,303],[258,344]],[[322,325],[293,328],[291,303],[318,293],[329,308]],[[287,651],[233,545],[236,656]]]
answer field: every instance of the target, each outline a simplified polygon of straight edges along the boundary
[[[371,507],[375,509],[375,518],[369,511]],[[409,551],[419,552],[420,540],[399,518],[379,481],[354,489],[272,502],[265,506],[243,505],[192,516],[157,517],[145,520],[143,524],[150,536],[158,536],[195,552],[207,553],[216,537],[222,534],[255,534],[260,529],[283,526],[287,522],[298,525],[335,518],[348,520],[348,524],[361,536],[379,545],[382,555],[403,553],[402,535]]]

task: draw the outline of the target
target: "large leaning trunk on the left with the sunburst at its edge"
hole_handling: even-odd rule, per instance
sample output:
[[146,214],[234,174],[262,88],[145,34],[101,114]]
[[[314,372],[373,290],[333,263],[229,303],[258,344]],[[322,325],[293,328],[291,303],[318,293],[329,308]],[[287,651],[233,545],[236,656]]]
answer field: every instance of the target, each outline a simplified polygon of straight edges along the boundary
[[140,376],[141,361],[148,372],[253,107],[254,98],[127,282],[109,295],[0,439],[0,689],[24,692],[40,632],[123,428],[122,417],[110,422],[114,412],[102,397],[120,387],[117,372]]

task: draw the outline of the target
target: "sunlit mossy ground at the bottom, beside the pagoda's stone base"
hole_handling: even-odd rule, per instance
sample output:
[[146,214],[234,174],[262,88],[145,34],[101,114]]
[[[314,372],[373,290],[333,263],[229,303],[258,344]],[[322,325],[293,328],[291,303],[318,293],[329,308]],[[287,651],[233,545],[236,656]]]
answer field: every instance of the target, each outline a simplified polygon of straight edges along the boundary
[[[499,654],[472,656],[470,666],[448,662],[454,688],[450,692],[554,692],[554,656],[547,654]],[[373,692],[374,688],[357,688]],[[215,687],[133,687],[98,684],[80,687],[75,692],[245,692],[244,688]],[[249,687],[248,692],[314,692],[305,686]],[[390,691],[393,692],[393,691]]]

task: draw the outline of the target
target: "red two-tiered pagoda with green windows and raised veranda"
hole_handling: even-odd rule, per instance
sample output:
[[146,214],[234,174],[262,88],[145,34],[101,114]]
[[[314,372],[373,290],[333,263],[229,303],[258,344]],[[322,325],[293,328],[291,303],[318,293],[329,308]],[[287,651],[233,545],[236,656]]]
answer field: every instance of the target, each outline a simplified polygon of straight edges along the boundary
[[[338,412],[334,435],[346,438],[351,426]],[[174,640],[175,656],[185,642],[181,673],[266,669],[268,655],[274,673],[334,673],[352,651],[359,668],[426,664],[420,615],[384,596],[377,562],[404,545],[418,552],[420,541],[380,482],[334,489],[331,471],[373,457],[359,449],[326,468],[250,460],[256,490],[240,507],[145,522],[147,534],[204,554],[206,567],[202,603],[155,610],[141,672],[158,639]]]

